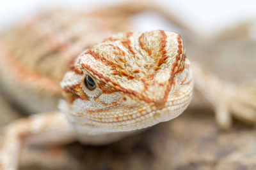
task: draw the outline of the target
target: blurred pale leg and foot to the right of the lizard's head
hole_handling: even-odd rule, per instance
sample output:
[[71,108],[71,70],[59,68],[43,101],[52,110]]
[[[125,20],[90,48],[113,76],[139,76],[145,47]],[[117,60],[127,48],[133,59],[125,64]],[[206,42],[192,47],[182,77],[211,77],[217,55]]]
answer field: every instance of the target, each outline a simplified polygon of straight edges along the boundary
[[233,85],[193,62],[195,89],[211,105],[216,113],[216,122],[221,129],[232,125],[233,115],[243,122],[256,123],[256,82],[250,85]]

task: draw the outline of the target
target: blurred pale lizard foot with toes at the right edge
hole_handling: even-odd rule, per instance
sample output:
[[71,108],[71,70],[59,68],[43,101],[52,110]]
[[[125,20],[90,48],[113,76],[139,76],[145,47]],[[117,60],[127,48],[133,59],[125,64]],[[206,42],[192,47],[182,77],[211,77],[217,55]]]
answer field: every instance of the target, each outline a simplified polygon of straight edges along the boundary
[[221,129],[229,129],[232,116],[246,124],[256,123],[256,81],[244,85],[221,85],[213,104],[216,122]]

